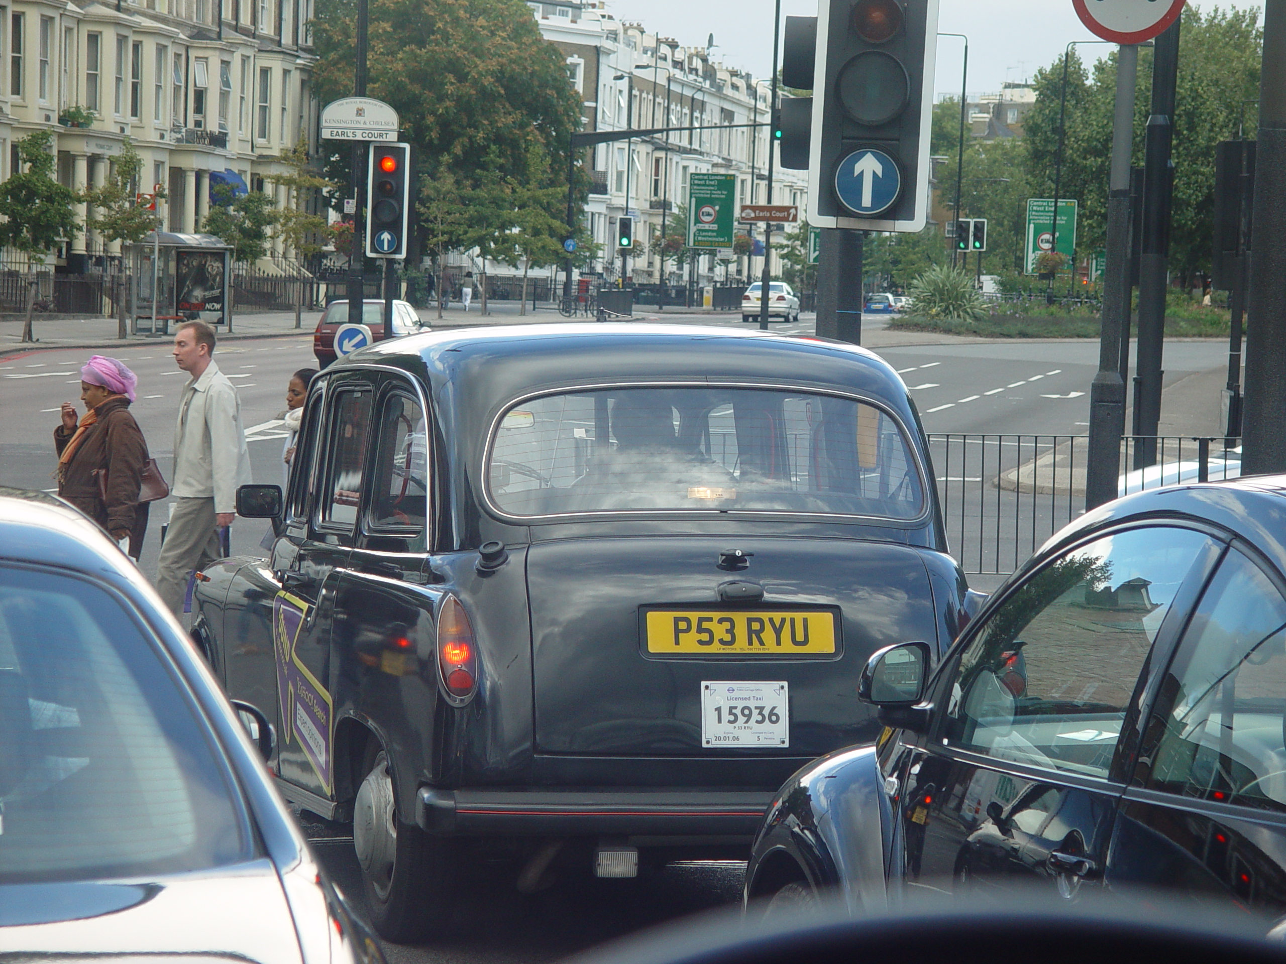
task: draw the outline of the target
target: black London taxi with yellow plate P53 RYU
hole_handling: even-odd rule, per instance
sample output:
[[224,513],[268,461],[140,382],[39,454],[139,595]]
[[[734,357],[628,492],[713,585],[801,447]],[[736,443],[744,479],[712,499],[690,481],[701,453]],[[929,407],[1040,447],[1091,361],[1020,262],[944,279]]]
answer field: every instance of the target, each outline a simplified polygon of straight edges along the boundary
[[275,708],[284,796],[352,823],[391,940],[478,848],[529,877],[550,841],[599,877],[743,856],[782,780],[880,733],[868,657],[945,650],[970,604],[907,389],[838,342],[379,342],[312,380],[284,501],[239,510],[271,555],[201,573],[194,635]]

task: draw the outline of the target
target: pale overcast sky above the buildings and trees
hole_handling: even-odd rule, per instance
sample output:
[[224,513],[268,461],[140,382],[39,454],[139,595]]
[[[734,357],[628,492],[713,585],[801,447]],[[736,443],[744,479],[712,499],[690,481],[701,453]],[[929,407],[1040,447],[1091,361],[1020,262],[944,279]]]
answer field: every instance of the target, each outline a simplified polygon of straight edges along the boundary
[[[940,0],[940,31],[966,33],[968,48],[968,93],[985,94],[1004,81],[1031,77],[1037,68],[1062,57],[1069,40],[1094,40],[1071,9],[1071,0]],[[1263,13],[1263,0],[1201,0],[1193,5],[1254,6]],[[773,59],[773,0],[607,0],[607,9],[621,21],[637,21],[648,31],[670,36],[680,44],[705,45],[715,36],[715,59],[729,67],[766,77]],[[782,0],[782,15],[817,14],[817,0]],[[963,41],[941,37],[937,45],[935,87],[939,94],[961,89]],[[1107,45],[1088,48],[1085,59],[1096,59]]]

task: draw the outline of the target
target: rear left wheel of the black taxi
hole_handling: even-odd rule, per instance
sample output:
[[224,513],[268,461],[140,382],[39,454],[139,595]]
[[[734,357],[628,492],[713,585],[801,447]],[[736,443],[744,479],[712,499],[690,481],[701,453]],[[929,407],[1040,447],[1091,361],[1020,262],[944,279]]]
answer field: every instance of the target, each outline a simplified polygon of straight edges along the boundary
[[379,936],[410,943],[440,932],[450,918],[451,846],[400,817],[387,753],[374,745],[367,757],[352,807],[361,889]]

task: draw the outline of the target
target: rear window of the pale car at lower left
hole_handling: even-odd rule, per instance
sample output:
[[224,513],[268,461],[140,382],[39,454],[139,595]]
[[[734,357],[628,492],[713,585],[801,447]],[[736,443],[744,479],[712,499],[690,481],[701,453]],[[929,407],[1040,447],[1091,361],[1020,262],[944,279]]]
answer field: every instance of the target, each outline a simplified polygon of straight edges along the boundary
[[0,568],[0,883],[246,860],[225,774],[116,598],[78,578]]

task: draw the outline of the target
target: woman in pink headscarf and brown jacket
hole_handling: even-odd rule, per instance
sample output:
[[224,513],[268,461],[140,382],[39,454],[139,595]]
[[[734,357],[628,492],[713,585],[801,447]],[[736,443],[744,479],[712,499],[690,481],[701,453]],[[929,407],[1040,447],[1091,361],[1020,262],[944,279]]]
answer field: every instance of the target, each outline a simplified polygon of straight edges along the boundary
[[[62,424],[54,429],[58,450],[58,495],[107,530],[129,539],[135,559],[148,526],[147,503],[139,504],[139,479],[148,463],[148,443],[130,414],[139,379],[123,362],[95,355],[81,369],[85,415],[63,402]],[[103,499],[95,473],[107,473]]]

